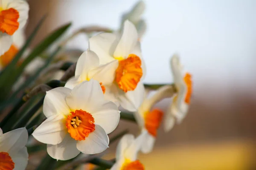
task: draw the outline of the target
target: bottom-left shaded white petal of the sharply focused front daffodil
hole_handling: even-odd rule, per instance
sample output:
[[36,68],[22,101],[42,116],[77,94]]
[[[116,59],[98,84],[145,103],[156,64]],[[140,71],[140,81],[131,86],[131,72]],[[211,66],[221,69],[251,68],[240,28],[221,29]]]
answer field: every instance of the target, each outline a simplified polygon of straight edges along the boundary
[[68,160],[75,158],[80,151],[76,148],[76,140],[67,134],[63,141],[59,144],[47,144],[47,153],[54,159],[58,160]]

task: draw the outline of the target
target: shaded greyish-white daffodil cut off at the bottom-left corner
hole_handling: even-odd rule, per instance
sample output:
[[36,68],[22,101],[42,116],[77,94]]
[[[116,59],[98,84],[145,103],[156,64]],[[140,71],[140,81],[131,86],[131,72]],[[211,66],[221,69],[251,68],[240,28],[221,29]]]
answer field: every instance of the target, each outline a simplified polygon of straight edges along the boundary
[[25,170],[29,157],[27,141],[24,127],[4,134],[0,129],[0,170]]

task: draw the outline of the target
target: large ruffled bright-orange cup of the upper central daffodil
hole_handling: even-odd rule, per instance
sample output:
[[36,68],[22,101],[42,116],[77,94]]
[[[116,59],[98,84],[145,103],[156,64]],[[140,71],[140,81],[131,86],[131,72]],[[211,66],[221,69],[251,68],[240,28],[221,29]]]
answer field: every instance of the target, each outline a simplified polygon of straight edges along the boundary
[[127,59],[119,60],[116,82],[125,93],[137,87],[142,75],[141,60],[137,55],[130,54]]

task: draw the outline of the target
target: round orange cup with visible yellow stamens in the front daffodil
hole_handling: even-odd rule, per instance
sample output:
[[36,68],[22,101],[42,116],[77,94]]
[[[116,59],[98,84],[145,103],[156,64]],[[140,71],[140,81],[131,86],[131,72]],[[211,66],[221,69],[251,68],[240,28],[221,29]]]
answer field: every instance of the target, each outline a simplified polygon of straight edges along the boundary
[[85,140],[95,130],[93,116],[81,109],[70,113],[66,119],[68,133],[75,140]]

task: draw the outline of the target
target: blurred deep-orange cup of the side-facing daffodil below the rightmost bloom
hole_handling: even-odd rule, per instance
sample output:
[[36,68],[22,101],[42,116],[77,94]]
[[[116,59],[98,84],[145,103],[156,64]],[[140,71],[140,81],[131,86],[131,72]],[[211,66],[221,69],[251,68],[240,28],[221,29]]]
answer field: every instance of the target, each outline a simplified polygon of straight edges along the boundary
[[154,109],[151,112],[145,113],[145,127],[152,136],[157,136],[157,129],[163,118],[163,111]]

